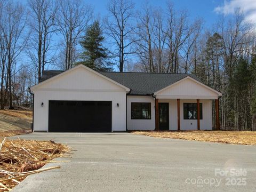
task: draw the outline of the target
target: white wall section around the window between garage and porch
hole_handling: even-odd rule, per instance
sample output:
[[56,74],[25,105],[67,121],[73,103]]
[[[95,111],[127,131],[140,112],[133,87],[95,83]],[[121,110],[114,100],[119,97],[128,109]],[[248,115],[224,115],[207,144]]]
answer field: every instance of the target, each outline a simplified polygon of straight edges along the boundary
[[[132,102],[150,102],[151,119],[132,119]],[[155,100],[153,97],[127,95],[127,130],[155,130]]]

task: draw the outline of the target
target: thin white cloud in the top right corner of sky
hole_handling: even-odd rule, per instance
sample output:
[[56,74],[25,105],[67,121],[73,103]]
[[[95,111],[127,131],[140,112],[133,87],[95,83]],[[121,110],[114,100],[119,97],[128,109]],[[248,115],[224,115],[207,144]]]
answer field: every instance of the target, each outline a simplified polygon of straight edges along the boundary
[[234,14],[237,9],[241,9],[245,16],[245,21],[256,24],[256,0],[230,0],[224,1],[222,6],[217,6],[214,12],[218,14]]

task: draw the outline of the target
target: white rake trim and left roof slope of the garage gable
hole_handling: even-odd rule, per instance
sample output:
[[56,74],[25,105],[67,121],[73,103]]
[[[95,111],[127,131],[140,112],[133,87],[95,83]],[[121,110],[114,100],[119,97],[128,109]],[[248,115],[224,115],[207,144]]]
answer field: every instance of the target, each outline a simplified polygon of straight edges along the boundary
[[[111,78],[109,78],[109,77],[107,77],[107,76],[105,76],[105,75],[102,75],[102,74],[100,74],[99,72],[97,72],[97,71],[95,71],[95,70],[93,70],[93,69],[91,69],[91,68],[89,68],[89,67],[86,67],[86,66],[84,66],[84,65],[82,65],[82,64],[81,64],[81,65],[78,65],[78,66],[76,66],[76,67],[74,67],[74,68],[71,68],[71,69],[69,69],[69,70],[66,70],[66,71],[56,71],[56,70],[55,70],[55,71],[50,71],[50,73],[49,73],[47,76],[42,75],[41,82],[39,82],[38,84],[36,84],[36,85],[34,85],[34,86],[30,87],[30,88],[31,88],[31,90],[34,90],[34,89],[36,89],[36,87],[41,86],[41,85],[43,85],[43,84],[45,84],[45,83],[51,81],[51,80],[54,79],[54,78],[58,78],[59,76],[63,76],[63,75],[65,75],[65,74],[68,74],[68,73],[70,73],[71,71],[74,71],[74,70],[76,70],[76,69],[78,69],[78,68],[86,69],[86,70],[90,71],[91,73],[93,73],[93,74],[95,74],[95,75],[98,75],[98,76],[100,76],[100,77],[102,77],[102,78],[105,78],[107,81],[109,81],[109,82],[111,82],[111,83],[114,83],[114,84],[116,84],[116,85],[122,87],[123,89],[125,89],[126,92],[130,92],[130,88],[129,88],[129,87],[126,87],[125,85],[120,84],[120,83],[114,81],[113,79],[111,79]],[[43,74],[44,74],[44,71],[43,71]],[[44,77],[43,77],[43,76],[44,76]],[[49,78],[48,78],[48,77],[49,77]],[[42,81],[42,79],[43,79],[44,81]]]

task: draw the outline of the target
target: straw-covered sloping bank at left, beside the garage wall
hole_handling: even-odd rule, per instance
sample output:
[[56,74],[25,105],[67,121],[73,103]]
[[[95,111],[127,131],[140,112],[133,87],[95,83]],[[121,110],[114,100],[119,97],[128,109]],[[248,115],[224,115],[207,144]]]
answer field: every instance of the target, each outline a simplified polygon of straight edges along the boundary
[[0,137],[29,133],[32,117],[29,110],[0,110]]

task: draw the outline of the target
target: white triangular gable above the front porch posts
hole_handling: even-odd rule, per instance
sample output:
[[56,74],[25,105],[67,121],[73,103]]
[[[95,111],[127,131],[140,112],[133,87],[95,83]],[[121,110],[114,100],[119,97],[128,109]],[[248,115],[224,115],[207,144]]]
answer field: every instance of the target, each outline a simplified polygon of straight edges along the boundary
[[191,77],[157,91],[156,98],[159,99],[218,99],[221,93],[203,85]]

